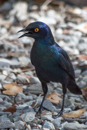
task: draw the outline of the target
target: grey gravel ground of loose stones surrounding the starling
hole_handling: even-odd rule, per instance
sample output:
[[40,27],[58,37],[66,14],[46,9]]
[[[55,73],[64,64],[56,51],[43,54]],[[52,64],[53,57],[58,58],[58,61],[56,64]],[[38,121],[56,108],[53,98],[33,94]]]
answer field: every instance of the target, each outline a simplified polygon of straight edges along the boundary
[[[11,0],[0,5],[0,130],[87,130],[87,102],[82,96],[69,91],[64,113],[80,109],[83,115],[56,117],[62,100],[57,105],[48,99],[43,104],[42,115],[36,115],[43,95],[30,61],[34,40],[26,37],[18,39],[20,34],[17,33],[34,21],[48,24],[57,43],[69,54],[76,82],[83,89],[87,87],[86,16],[87,7],[52,3],[51,0],[40,6]],[[2,90],[7,83],[19,84],[23,92],[15,98],[6,95]],[[51,82],[48,88],[48,95],[55,92],[62,98],[61,84]]]

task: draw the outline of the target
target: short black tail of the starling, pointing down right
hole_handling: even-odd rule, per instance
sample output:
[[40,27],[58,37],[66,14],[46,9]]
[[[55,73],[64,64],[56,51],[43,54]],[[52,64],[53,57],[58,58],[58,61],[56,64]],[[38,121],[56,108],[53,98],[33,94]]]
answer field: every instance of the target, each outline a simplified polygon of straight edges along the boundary
[[73,94],[78,94],[81,95],[82,91],[79,88],[79,86],[75,83],[75,81],[71,80],[67,86],[67,88],[69,89],[69,91]]

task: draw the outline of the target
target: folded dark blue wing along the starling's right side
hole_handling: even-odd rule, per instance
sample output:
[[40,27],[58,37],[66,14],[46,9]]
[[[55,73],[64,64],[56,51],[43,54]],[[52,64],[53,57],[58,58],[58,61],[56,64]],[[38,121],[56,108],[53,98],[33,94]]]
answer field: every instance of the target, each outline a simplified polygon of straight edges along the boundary
[[61,68],[64,69],[73,80],[75,80],[75,74],[69,56],[60,46],[57,46],[57,49],[59,52],[58,59]]

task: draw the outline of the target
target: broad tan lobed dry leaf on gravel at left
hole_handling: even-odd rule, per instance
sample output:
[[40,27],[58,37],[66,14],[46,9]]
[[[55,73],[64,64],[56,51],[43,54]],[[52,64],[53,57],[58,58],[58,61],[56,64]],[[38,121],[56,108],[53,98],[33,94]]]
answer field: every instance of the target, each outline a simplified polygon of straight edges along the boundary
[[20,85],[14,83],[4,84],[3,88],[6,89],[5,91],[3,91],[3,93],[7,95],[16,95],[19,92],[23,92],[23,88]]

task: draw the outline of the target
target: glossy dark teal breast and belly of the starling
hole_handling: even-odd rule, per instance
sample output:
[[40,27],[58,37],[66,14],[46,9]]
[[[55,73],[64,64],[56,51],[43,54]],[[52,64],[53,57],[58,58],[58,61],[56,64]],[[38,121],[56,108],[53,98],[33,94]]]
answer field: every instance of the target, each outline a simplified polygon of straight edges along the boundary
[[31,62],[40,80],[61,82],[65,77],[65,72],[58,65],[58,56],[54,48],[33,46]]

